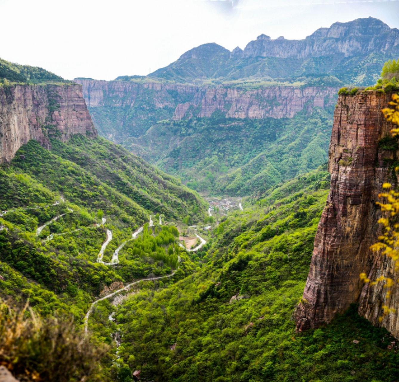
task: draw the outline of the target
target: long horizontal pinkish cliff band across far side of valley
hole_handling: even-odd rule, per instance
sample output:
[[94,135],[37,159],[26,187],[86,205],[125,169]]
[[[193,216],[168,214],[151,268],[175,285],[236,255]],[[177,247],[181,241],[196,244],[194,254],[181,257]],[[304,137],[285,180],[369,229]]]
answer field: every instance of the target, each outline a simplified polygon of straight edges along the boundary
[[[75,79],[75,82],[83,86],[83,96],[88,107],[134,107],[141,104],[151,104],[158,109],[172,107],[175,120],[191,117],[189,111],[196,117],[210,117],[215,111],[221,111],[229,118],[292,118],[304,107],[333,104],[338,90],[335,87],[315,86],[273,86],[259,89],[198,87],[89,79]],[[186,102],[180,102],[183,99]]]

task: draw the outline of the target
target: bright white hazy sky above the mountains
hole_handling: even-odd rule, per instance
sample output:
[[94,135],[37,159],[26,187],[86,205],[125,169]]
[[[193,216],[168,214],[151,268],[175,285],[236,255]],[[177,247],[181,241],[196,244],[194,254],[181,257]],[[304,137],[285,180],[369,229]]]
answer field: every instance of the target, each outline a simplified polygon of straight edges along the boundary
[[399,28],[399,0],[0,0],[0,57],[66,79],[146,75],[207,42],[302,39],[360,17]]

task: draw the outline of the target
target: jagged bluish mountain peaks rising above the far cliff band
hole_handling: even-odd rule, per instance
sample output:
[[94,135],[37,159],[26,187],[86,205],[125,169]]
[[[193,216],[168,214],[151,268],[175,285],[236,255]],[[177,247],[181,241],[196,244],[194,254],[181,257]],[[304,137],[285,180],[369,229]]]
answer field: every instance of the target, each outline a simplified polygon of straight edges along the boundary
[[336,22],[303,40],[282,36],[273,40],[262,34],[244,50],[237,47],[230,52],[215,43],[203,44],[148,78],[180,83],[251,79],[308,83],[314,77],[327,77],[334,85],[370,85],[378,78],[383,63],[398,55],[399,30],[369,17]]

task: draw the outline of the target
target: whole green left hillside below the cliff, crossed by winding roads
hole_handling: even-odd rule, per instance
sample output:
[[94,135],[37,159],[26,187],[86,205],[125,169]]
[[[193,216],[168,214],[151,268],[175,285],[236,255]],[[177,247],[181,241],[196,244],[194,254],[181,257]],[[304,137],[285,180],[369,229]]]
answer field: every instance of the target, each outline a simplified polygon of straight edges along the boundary
[[[42,313],[72,311],[80,320],[106,285],[176,268],[178,231],[144,225],[150,214],[157,224],[159,216],[198,220],[206,206],[174,178],[103,139],[51,144],[48,151],[30,141],[0,169],[0,297],[17,303],[30,297]],[[101,260],[112,261],[126,242],[117,267],[98,262],[111,236]]]

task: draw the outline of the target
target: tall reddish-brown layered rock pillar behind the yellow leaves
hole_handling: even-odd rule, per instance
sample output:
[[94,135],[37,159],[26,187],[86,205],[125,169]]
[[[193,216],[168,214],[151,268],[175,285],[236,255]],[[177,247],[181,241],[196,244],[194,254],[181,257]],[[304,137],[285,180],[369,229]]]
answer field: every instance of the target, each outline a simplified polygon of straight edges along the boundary
[[[381,234],[381,210],[375,202],[382,184],[393,181],[398,154],[395,141],[391,145],[381,141],[393,128],[381,113],[390,100],[391,94],[375,91],[338,98],[329,150],[331,189],[295,313],[298,331],[329,323],[352,303],[359,303],[359,314],[375,325],[382,315],[382,285],[364,285],[359,275],[364,272],[375,279],[393,271],[391,261],[369,249]],[[396,288],[389,305],[398,302]],[[399,338],[398,313],[385,317],[381,325]]]

